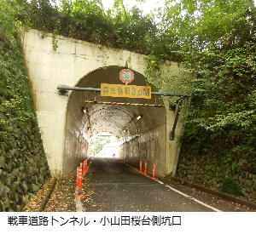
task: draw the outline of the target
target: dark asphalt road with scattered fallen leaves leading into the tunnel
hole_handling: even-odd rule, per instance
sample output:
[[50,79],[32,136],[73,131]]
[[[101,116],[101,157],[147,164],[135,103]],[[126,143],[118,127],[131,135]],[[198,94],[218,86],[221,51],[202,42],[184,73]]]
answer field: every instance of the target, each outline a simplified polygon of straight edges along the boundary
[[172,180],[156,179],[117,158],[94,157],[77,208],[85,212],[253,211]]

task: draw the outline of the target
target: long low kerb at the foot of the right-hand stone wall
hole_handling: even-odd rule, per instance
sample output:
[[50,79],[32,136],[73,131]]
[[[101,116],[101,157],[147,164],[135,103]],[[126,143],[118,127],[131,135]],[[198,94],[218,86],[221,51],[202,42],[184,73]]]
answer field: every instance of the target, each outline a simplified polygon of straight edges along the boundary
[[247,208],[252,208],[252,209],[256,210],[256,203],[253,203],[253,202],[248,201],[246,199],[243,199],[241,197],[236,197],[236,196],[230,195],[228,193],[224,193],[223,191],[217,191],[217,190],[214,190],[214,189],[211,189],[211,188],[207,188],[203,185],[198,185],[198,184],[195,184],[195,183],[190,182],[188,180],[183,180],[183,179],[180,179],[180,178],[177,178],[177,177],[172,177],[172,180],[177,181],[177,182],[179,182],[183,185],[187,185],[187,186],[196,188],[198,190],[205,191],[205,192],[207,192],[209,194],[212,194],[214,196],[222,197],[225,200],[247,206]]

